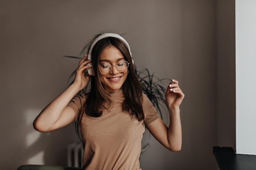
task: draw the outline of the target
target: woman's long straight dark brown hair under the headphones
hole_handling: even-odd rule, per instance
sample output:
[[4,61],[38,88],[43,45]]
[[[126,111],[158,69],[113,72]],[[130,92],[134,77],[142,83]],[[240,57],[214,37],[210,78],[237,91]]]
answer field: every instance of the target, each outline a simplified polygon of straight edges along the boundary
[[98,70],[99,56],[104,49],[110,46],[115,46],[119,49],[124,55],[125,60],[130,63],[127,78],[122,86],[125,97],[122,109],[123,111],[128,111],[131,115],[135,115],[138,121],[141,121],[144,119],[142,87],[135,73],[128,47],[122,40],[114,37],[99,40],[92,49],[92,67],[95,76],[91,77],[91,91],[87,94],[88,97],[84,105],[85,114],[91,117],[100,117],[103,109],[108,109],[113,104],[110,95],[106,93],[101,84]]

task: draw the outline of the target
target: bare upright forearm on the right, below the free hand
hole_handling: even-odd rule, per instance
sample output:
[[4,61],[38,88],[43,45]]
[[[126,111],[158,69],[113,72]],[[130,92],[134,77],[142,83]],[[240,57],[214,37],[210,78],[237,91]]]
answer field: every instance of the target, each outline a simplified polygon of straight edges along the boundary
[[180,108],[169,108],[170,124],[167,130],[168,143],[172,151],[179,151],[182,146],[182,127]]

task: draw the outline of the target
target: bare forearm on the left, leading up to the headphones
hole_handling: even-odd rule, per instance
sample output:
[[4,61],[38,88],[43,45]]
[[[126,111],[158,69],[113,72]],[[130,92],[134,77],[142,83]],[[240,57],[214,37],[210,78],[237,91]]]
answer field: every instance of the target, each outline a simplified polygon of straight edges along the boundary
[[[49,103],[42,112],[36,117],[34,121],[34,128],[39,131],[47,131],[51,129],[54,124],[61,118],[63,110],[66,108],[70,100],[79,92],[79,87],[72,84],[61,95],[56,97],[51,103]],[[69,121],[64,119],[63,122]],[[42,130],[44,128],[44,130]]]

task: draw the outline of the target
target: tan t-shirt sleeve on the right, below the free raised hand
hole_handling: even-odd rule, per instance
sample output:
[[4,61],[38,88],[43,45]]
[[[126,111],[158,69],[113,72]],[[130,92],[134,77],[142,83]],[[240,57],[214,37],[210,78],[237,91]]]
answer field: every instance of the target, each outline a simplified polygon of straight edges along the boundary
[[143,107],[143,112],[145,116],[144,118],[145,124],[149,124],[160,117],[159,114],[157,113],[157,110],[155,109],[153,104],[150,102],[150,100],[144,93],[143,93],[142,107]]

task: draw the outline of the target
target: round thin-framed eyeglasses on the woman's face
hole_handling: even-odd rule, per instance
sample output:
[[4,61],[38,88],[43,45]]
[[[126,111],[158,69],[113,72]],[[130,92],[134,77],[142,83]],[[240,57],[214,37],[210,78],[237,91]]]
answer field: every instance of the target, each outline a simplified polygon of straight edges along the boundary
[[121,61],[118,62],[117,64],[101,64],[101,66],[99,66],[99,72],[101,72],[101,74],[103,75],[107,75],[110,73],[110,71],[112,70],[112,66],[116,66],[117,70],[121,73],[125,72],[128,68],[130,63],[128,63],[127,61]]

